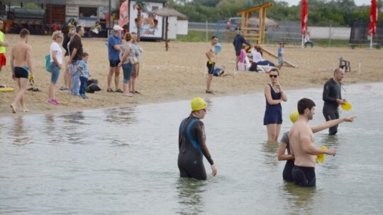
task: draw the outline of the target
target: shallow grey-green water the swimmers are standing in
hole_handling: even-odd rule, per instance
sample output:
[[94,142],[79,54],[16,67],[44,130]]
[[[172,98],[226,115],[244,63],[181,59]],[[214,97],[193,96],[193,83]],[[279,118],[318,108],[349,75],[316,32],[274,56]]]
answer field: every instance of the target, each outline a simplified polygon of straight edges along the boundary
[[[316,166],[317,186],[283,182],[277,144],[266,144],[262,93],[208,100],[203,120],[218,175],[180,179],[178,127],[189,101],[0,118],[1,214],[381,214],[383,84],[345,86],[357,115]],[[316,102],[311,124],[324,122],[321,89],[286,91],[282,131],[300,98]],[[205,160],[206,170],[211,173]]]

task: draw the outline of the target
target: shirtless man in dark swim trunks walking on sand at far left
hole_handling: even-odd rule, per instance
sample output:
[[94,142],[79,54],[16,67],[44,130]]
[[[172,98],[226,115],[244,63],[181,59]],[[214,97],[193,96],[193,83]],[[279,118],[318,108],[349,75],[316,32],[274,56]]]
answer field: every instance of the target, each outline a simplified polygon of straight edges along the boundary
[[32,71],[32,47],[27,44],[29,30],[23,28],[20,31],[20,41],[13,46],[11,53],[12,79],[17,81],[19,91],[15,100],[11,103],[12,112],[16,113],[16,103],[20,101],[23,112],[28,112],[24,103],[24,93],[26,93],[28,76],[33,77]]

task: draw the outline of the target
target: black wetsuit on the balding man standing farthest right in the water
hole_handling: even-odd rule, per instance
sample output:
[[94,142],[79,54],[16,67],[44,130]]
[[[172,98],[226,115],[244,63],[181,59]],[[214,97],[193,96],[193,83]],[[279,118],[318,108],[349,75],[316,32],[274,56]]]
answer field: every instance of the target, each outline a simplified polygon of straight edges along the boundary
[[[337,99],[342,99],[340,92],[340,83],[336,83],[333,79],[329,79],[323,87],[323,116],[326,121],[339,119],[339,105]],[[328,134],[334,135],[338,132],[338,124],[328,129]]]

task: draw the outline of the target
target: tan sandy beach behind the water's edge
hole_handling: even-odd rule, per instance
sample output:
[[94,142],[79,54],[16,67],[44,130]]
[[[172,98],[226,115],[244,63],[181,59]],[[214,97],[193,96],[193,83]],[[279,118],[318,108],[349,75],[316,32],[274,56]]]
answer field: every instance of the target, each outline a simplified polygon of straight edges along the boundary
[[[0,92],[0,116],[24,115],[18,104],[16,114],[11,113],[9,105],[13,101],[18,87],[11,79],[11,47],[18,41],[18,35],[6,35],[11,46],[7,47],[7,65],[0,72],[0,84],[15,88],[15,92]],[[215,77],[212,90],[216,95],[205,93],[206,42],[170,42],[169,51],[165,52],[165,42],[140,42],[143,47],[143,62],[140,65],[140,76],[137,79],[137,91],[133,98],[126,98],[121,93],[106,92],[106,78],[109,71],[108,49],[106,39],[84,38],[84,52],[89,53],[89,72],[92,79],[99,81],[102,91],[94,94],[87,93],[89,99],[83,100],[67,91],[59,91],[63,86],[63,72],[57,83],[56,98],[61,105],[50,105],[48,86],[50,73],[45,71],[45,55],[49,52],[50,36],[31,35],[28,41],[33,47],[34,87],[41,92],[27,91],[27,114],[43,112],[68,112],[89,110],[94,108],[109,108],[146,103],[162,103],[174,100],[189,100],[195,96],[211,98],[225,95],[239,95],[262,92],[269,81],[266,74],[257,72],[233,71],[235,67],[235,52],[233,45],[222,43],[222,52],[218,54],[216,66],[226,66],[226,74],[232,76]],[[276,46],[264,46],[267,50],[277,53]],[[277,59],[264,54],[265,59],[277,62]],[[313,47],[284,47],[284,59],[292,62],[298,68],[282,67],[280,83],[285,90],[295,88],[321,88],[323,83],[333,75],[333,69],[338,67],[338,57],[350,61],[351,72],[345,74],[343,84],[382,82],[383,73],[379,62],[383,61],[383,50],[369,50],[367,47],[351,50],[350,48]],[[360,67],[359,67],[360,65]],[[120,87],[122,88],[122,69]],[[114,83],[113,83],[114,88]],[[29,88],[30,86],[28,86]],[[320,92],[321,93],[321,92]],[[264,101],[262,101],[264,102]],[[292,101],[290,101],[292,102]]]

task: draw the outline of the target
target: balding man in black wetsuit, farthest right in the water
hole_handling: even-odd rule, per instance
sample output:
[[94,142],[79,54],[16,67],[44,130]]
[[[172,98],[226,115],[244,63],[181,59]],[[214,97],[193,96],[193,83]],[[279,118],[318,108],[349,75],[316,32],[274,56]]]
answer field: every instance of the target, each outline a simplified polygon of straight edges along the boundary
[[[345,75],[343,69],[335,69],[333,78],[326,81],[323,86],[323,116],[326,121],[339,119],[339,105],[347,103],[347,100],[342,99],[340,92],[340,81]],[[338,132],[338,124],[328,129],[329,135],[335,135]]]

